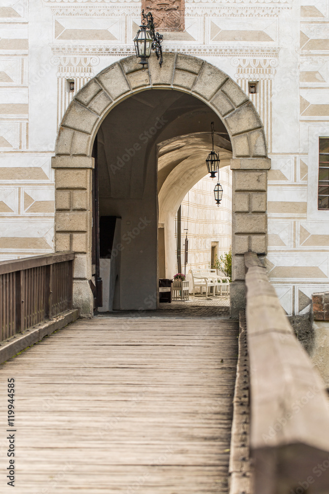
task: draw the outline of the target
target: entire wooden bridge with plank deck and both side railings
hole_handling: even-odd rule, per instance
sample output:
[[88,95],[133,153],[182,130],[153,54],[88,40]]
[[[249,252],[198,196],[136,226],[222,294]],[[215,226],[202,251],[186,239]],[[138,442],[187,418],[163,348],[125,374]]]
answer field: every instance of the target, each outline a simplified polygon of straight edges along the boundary
[[[75,317],[64,283],[73,257],[33,259],[0,263],[2,362]],[[12,475],[18,494],[328,493],[324,386],[261,261],[245,260],[239,322],[77,320],[7,360],[0,492],[12,492]],[[10,304],[23,296],[17,316]]]

